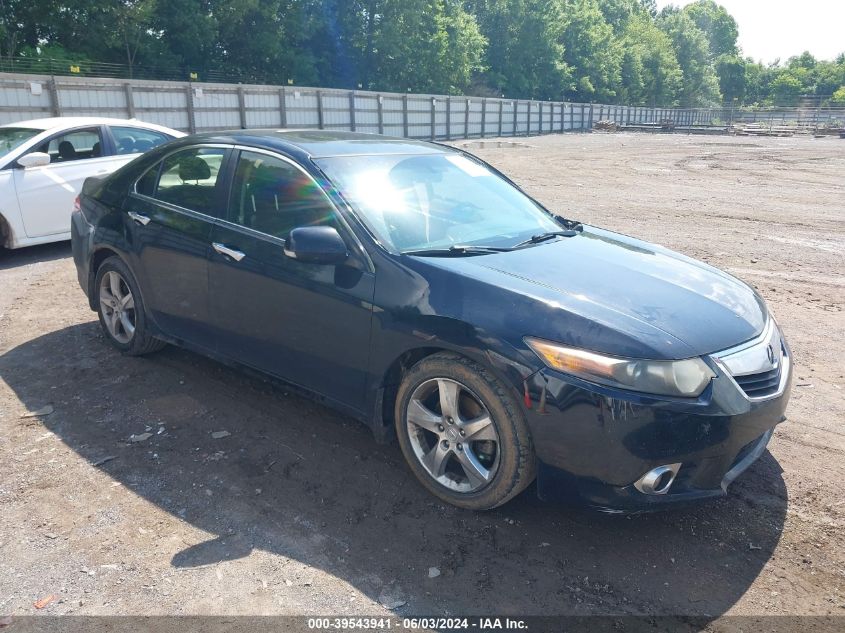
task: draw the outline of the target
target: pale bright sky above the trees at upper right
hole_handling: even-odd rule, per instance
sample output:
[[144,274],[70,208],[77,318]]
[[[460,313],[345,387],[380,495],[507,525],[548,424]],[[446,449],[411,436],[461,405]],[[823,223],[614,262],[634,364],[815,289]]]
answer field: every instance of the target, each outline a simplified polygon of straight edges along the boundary
[[[845,53],[845,0],[716,0],[739,25],[746,57],[770,63],[810,51],[817,59]],[[657,6],[690,0],[657,0]]]

